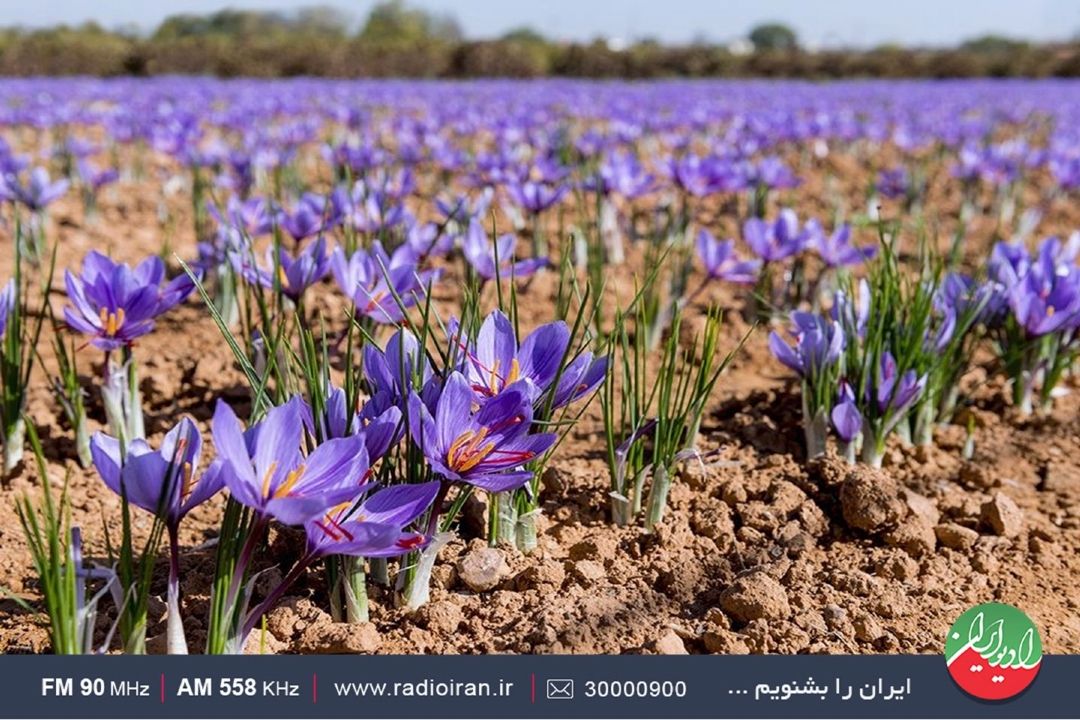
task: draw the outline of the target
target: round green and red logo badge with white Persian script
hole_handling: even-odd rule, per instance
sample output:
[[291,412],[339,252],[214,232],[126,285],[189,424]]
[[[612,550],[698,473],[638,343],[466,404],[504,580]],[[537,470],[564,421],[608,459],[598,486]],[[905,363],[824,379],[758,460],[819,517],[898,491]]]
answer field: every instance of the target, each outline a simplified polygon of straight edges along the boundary
[[953,680],[969,695],[990,701],[1015,697],[1039,674],[1039,628],[1011,604],[975,606],[949,628],[945,663]]

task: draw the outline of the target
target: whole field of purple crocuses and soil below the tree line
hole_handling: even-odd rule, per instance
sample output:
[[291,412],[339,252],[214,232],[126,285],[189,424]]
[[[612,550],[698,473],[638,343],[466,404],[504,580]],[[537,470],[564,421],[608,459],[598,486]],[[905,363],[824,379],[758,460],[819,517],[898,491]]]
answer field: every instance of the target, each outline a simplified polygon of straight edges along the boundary
[[6,652],[1080,650],[1080,84],[0,87]]

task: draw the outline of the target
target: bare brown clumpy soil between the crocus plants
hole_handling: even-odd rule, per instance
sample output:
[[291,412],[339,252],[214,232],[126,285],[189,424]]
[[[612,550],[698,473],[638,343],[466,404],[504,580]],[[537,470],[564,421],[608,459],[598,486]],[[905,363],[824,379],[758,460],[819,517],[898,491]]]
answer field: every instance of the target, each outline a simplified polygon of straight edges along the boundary
[[[824,215],[832,202],[819,190],[825,186],[824,168],[810,168],[807,185],[793,195],[804,213]],[[832,172],[849,196],[866,185],[864,168]],[[955,206],[941,185],[928,206]],[[94,247],[127,261],[160,252],[159,192],[156,186],[121,185],[103,198],[96,225],[85,222],[73,198],[62,201],[51,229],[59,243],[59,267],[78,267]],[[171,202],[176,227],[189,228],[184,199]],[[1076,220],[1072,207],[1054,205],[1042,230],[1066,232]],[[730,218],[715,222],[733,234]],[[980,237],[969,243],[983,249],[973,253],[985,252],[990,232],[993,222],[984,222]],[[190,230],[186,233],[177,231],[171,244],[190,257],[193,240]],[[8,276],[11,243],[4,239],[3,246],[9,256],[0,272]],[[629,268],[615,273],[624,293],[629,279]],[[526,300],[539,300],[521,303],[526,324],[550,320],[544,313],[550,312],[551,279],[538,279],[525,293]],[[332,309],[342,300],[328,283],[316,288],[316,296],[328,316],[340,316]],[[743,298],[714,287],[699,305],[716,300],[739,308]],[[453,293],[443,299],[451,300]],[[52,302],[59,311],[63,294],[54,293]],[[737,313],[730,317],[728,348],[745,330]],[[49,351],[42,352],[51,364]],[[214,398],[247,400],[227,347],[195,301],[162,318],[136,355],[151,443],[181,412],[208,435]],[[87,348],[79,359],[98,426],[104,419],[96,390],[99,353]],[[270,613],[268,633],[253,639],[252,650],[935,653],[960,612],[999,600],[1017,604],[1038,623],[1048,652],[1080,652],[1080,399],[1066,395],[1053,413],[1020,420],[1008,407],[1002,384],[980,379],[969,378],[978,386],[970,410],[976,425],[971,461],[961,459],[966,431],[957,425],[940,430],[933,448],[892,446],[880,474],[836,459],[807,464],[798,389],[770,358],[765,332],[758,331],[721,380],[703,423],[701,449],[715,452],[680,473],[669,515],[656,533],[609,522],[594,407],[545,478],[539,549],[522,556],[499,548],[505,567],[494,589],[474,593],[461,580],[470,553],[484,546],[475,536],[442,551],[431,602],[415,614],[394,609],[391,593],[373,587],[373,622],[366,626],[333,624],[324,612],[321,573],[312,572]],[[93,470],[71,460],[70,433],[40,372],[29,409],[40,426],[50,474],[59,483],[70,473],[75,520],[85,528],[91,552],[104,555],[102,519],[118,527],[119,500]],[[35,485],[24,467],[0,489],[0,584],[31,603],[39,598],[13,500]],[[184,606],[193,648],[200,642],[213,566],[213,551],[203,545],[213,536],[220,508],[217,499],[181,528]],[[475,518],[483,508],[474,504],[468,512]],[[474,525],[465,521],[462,533],[470,534]],[[284,531],[272,542],[272,557],[287,569],[296,538]],[[156,589],[163,595],[160,569]],[[160,648],[164,604],[154,603],[151,615],[151,648]],[[48,649],[40,614],[12,600],[0,602],[0,650]]]

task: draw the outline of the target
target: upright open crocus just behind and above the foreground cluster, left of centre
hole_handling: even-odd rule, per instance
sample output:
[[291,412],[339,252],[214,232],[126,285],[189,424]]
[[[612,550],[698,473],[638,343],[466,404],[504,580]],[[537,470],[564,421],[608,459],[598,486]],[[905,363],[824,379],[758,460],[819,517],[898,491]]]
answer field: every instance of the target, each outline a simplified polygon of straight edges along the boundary
[[378,241],[370,250],[360,248],[350,257],[340,247],[335,249],[329,268],[356,310],[383,324],[402,322],[403,311],[421,300],[428,285],[438,277],[436,271],[419,271],[407,252],[388,256]]

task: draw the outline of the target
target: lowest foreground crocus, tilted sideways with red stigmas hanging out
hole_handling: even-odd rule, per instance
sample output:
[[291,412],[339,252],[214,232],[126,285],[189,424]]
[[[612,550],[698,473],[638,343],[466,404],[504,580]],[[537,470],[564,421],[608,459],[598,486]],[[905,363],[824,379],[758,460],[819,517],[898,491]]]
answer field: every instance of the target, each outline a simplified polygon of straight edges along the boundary
[[397,485],[369,494],[360,505],[346,502],[332,507],[305,524],[308,554],[397,557],[422,548],[430,538],[404,528],[427,512],[438,486],[437,480]]

